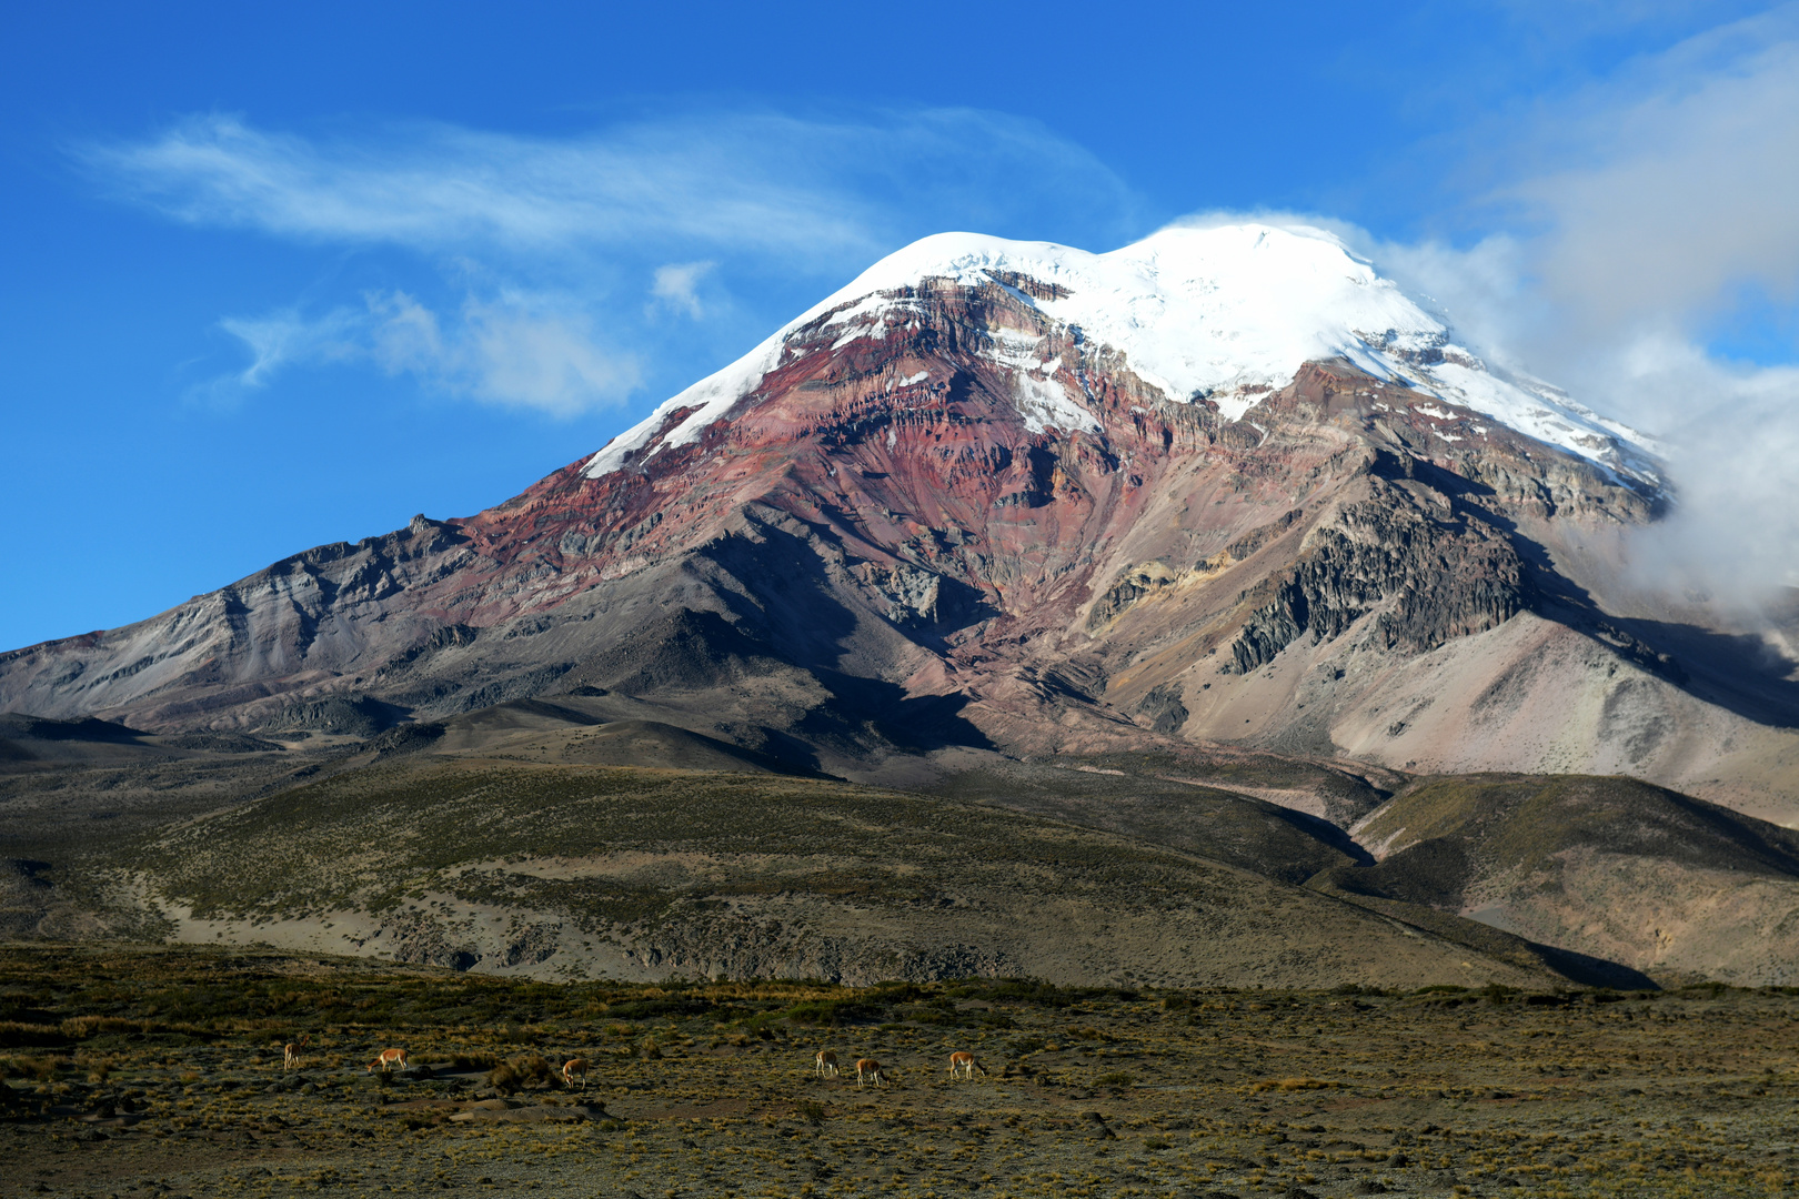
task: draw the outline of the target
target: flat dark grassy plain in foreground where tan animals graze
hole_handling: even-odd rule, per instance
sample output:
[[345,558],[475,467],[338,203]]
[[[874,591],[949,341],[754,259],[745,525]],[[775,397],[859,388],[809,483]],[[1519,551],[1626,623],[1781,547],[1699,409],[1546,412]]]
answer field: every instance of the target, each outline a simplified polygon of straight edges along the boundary
[[[281,1044],[311,1035],[304,1064]],[[363,1064],[387,1046],[414,1070]],[[883,1088],[813,1053],[878,1057]],[[948,1079],[948,1053],[986,1075]],[[585,1091],[549,1068],[585,1055]],[[0,1195],[1759,1195],[1799,994],[554,985],[0,949]],[[504,1070],[502,1070],[504,1068]]]

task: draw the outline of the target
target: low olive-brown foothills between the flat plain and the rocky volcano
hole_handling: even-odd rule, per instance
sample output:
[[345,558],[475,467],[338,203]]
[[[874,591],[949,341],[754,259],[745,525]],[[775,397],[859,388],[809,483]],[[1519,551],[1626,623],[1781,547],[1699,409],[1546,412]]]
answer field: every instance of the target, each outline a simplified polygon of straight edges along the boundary
[[[829,931],[826,940],[837,947],[820,949],[820,962],[847,960],[831,956],[849,953],[838,944],[847,938],[860,946],[855,953],[862,956],[851,955],[855,969],[873,971],[867,946],[853,935],[856,913],[864,911],[885,929],[876,938],[887,938],[882,944],[923,953],[934,938],[953,935],[964,951],[955,958],[959,965],[925,955],[935,964],[919,967],[926,973],[1033,969],[1094,978],[1083,973],[1092,960],[1074,951],[1087,942],[1049,935],[1052,924],[1031,926],[1027,937],[1000,913],[1036,911],[1047,897],[1074,886],[1085,899],[1070,908],[1063,931],[1099,937],[1110,928],[1110,902],[1169,899],[1187,883],[1153,874],[1106,875],[1117,883],[1108,901],[1099,875],[1065,877],[1061,850],[1045,848],[1042,839],[1069,836],[1081,845],[1090,838],[1128,843],[1133,854],[1157,861],[1202,863],[1205,870],[1256,879],[1241,884],[1238,899],[1254,910],[1247,915],[1254,915],[1270,953],[1313,944],[1315,910],[1286,893],[1304,884],[1389,919],[1387,928],[1410,928],[1533,978],[1648,987],[1644,971],[1660,980],[1722,976],[1738,983],[1779,983],[1792,974],[1785,946],[1799,910],[1794,834],[1630,780],[1472,777],[1414,786],[1398,775],[1362,777],[1241,750],[1040,762],[959,748],[916,759],[925,771],[919,786],[932,795],[912,793],[901,804],[894,791],[795,777],[795,768],[777,759],[646,719],[644,712],[653,712],[644,701],[588,688],[403,724],[369,742],[315,737],[291,750],[254,750],[237,744],[252,739],[218,733],[198,735],[221,742],[216,748],[162,748],[158,742],[194,735],[34,721],[31,726],[45,741],[77,757],[13,762],[0,771],[0,926],[14,937],[275,937],[306,949],[421,953],[464,969],[657,978],[657,967],[675,969],[667,962],[691,965],[694,955],[711,953],[712,933],[694,924],[694,913],[712,902],[702,895],[705,886],[730,895],[775,888],[799,915],[730,926],[741,933],[732,942],[738,956],[721,958],[720,971],[734,969],[730,962],[774,969],[777,960],[802,969],[779,955],[757,956],[793,920],[811,922],[806,928],[819,937],[826,937],[819,929]],[[95,739],[76,741],[79,733]],[[86,760],[79,757],[83,746]],[[684,782],[673,786],[671,778]],[[1403,795],[1389,802],[1392,789]],[[651,798],[594,814],[599,795]],[[729,796],[738,796],[730,804],[741,816],[734,827],[720,823],[730,807],[720,804]],[[1338,823],[1297,811],[1295,796],[1331,805],[1340,823],[1351,823],[1351,813],[1373,811],[1355,825],[1362,843]],[[815,800],[820,813],[846,802],[862,814],[849,823],[824,820],[819,845],[806,854],[795,856],[790,839],[781,838],[757,848],[757,804],[786,813]],[[871,832],[889,802],[891,827]],[[583,811],[588,827],[574,829],[574,813]],[[986,838],[966,854],[952,852],[939,838],[961,820],[973,820]],[[401,904],[407,920],[392,920],[378,879],[401,884],[425,870],[419,877],[446,886],[450,877],[507,874],[504,859],[515,850],[491,843],[497,829],[524,847],[518,852],[543,861],[585,861],[597,854],[595,838],[617,841],[622,848],[599,854],[606,865],[590,874],[630,883],[633,902],[675,913],[669,920],[680,917],[680,937],[687,940],[671,942],[673,949],[655,942],[662,956],[633,958],[626,949],[642,947],[644,928],[621,926],[610,935],[624,958],[613,960],[606,956],[612,951],[594,949],[590,937],[579,946],[570,940],[568,929],[592,926],[592,913],[583,915],[586,908],[568,899],[576,892],[558,892],[559,899],[549,902],[529,886],[520,890],[516,879],[482,892],[479,911],[457,908],[461,915],[450,922],[441,906],[417,904],[414,886]],[[750,841],[730,841],[743,836]],[[1022,838],[1013,850],[1000,847],[1007,836]],[[725,839],[707,848],[711,838]],[[644,848],[651,843],[653,852]],[[417,845],[435,847],[428,861],[408,848]],[[649,857],[633,857],[639,852]],[[698,874],[687,866],[633,874],[628,865],[698,859],[711,863]],[[858,870],[880,859],[883,865],[869,868],[894,879],[948,870],[986,906],[975,919],[955,904],[889,904],[882,899],[887,892],[874,888],[873,906],[844,908],[844,897],[831,890],[838,866],[829,863],[840,859],[862,863]],[[1038,895],[1038,886],[1051,890]],[[214,902],[207,895],[219,888],[234,897],[219,901],[221,920],[171,924],[157,915],[205,908]],[[473,892],[457,893],[462,899],[455,902],[473,902]],[[320,908],[320,895],[336,895],[336,906]],[[1642,924],[1648,915],[1655,917],[1653,935]],[[416,928],[414,917],[425,924]],[[1144,919],[1150,922],[1132,933],[1141,946],[1195,935],[1178,920]],[[394,949],[389,933],[372,937],[376,929],[410,940]],[[506,929],[550,931],[527,953],[506,940],[511,933],[502,937]],[[1349,946],[1376,955],[1391,947],[1380,940]],[[533,956],[540,951],[549,956]],[[813,962],[806,953],[813,949],[801,953]],[[1231,962],[1245,971],[1252,964],[1249,956]],[[1371,958],[1353,978],[1401,985],[1414,978],[1405,962],[1389,974],[1391,964]],[[1256,971],[1231,978],[1288,978]]]

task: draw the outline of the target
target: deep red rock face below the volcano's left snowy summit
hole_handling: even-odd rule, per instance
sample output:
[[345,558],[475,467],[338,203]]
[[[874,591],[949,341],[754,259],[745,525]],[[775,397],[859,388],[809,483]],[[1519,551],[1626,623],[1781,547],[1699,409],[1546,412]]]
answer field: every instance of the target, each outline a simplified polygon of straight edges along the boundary
[[[802,331],[788,361],[696,442],[597,480],[567,467],[462,527],[515,554],[554,545],[563,570],[619,577],[766,505],[878,568],[971,586],[997,611],[1078,593],[1096,541],[1141,512],[1148,478],[1214,440],[1216,417],[1141,403],[1132,413],[1126,385],[1101,376],[1085,403],[1105,433],[1033,433],[1011,372],[980,358],[982,329],[1033,318],[997,288],[955,289],[914,327],[835,352],[835,329]],[[1069,347],[1045,336],[1043,358],[1058,356]],[[1074,374],[1061,367],[1056,383],[1081,395]]]

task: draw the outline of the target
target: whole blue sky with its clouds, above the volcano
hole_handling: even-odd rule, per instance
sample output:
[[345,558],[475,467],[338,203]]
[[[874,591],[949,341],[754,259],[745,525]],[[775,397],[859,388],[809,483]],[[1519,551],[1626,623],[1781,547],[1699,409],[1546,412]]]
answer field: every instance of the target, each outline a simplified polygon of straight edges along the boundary
[[1691,448],[1687,557],[1799,561],[1794,5],[13,2],[0,102],[0,647],[497,503],[916,237],[1218,210]]

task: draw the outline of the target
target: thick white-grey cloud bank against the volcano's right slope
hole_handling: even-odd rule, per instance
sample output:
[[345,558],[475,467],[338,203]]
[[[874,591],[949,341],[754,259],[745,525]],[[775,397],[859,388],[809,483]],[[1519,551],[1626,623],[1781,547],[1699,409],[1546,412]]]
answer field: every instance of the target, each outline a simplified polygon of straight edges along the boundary
[[1673,509],[1633,541],[1646,582],[1745,609],[1799,586],[1799,345],[1707,351],[1736,322],[1799,325],[1799,11],[1632,63],[1470,155],[1500,164],[1477,207],[1506,232],[1337,232],[1482,354],[1668,448]]

